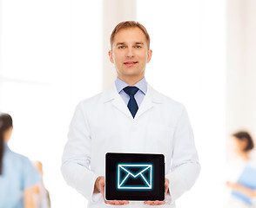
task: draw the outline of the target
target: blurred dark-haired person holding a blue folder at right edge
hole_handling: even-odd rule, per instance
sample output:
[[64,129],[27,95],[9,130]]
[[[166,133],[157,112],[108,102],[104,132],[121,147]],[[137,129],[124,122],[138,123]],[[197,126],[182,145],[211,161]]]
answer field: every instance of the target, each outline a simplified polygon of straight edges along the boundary
[[256,160],[253,157],[252,136],[246,131],[233,133],[232,142],[234,153],[238,156],[236,162],[240,162],[242,169],[238,179],[226,182],[232,191],[227,207],[256,207]]

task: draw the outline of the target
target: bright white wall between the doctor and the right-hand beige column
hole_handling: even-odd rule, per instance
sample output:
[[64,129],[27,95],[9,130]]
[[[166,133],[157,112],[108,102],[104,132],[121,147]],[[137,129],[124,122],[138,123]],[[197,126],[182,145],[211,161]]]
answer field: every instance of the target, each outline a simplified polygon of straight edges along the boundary
[[187,108],[202,166],[177,207],[224,207],[226,3],[138,0],[137,10],[152,37],[145,77]]

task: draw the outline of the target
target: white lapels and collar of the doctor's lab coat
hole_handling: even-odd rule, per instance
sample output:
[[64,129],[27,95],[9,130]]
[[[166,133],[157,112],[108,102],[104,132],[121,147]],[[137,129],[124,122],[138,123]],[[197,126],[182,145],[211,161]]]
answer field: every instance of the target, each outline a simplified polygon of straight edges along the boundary
[[118,110],[129,116],[132,120],[137,120],[146,111],[150,110],[155,105],[161,104],[163,102],[162,97],[159,96],[159,93],[154,90],[149,84],[147,85],[147,88],[148,91],[145,94],[145,98],[142,101],[140,107],[138,107],[138,112],[134,118],[132,118],[128,107],[125,105],[125,101],[123,101],[120,94],[118,94],[115,83],[113,83],[110,88],[107,88],[104,91],[104,103],[111,102],[114,107],[117,107]]

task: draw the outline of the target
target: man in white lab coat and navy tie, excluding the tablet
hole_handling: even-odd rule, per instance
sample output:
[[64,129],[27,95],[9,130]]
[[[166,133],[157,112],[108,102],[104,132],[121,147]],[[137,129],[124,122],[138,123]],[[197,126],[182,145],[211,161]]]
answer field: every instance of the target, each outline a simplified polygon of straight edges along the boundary
[[[150,36],[140,23],[119,23],[111,34],[110,61],[117,80],[103,93],[81,101],[71,120],[62,172],[88,207],[175,207],[199,176],[199,158],[185,107],[145,81]],[[165,201],[105,201],[105,153],[163,153]]]

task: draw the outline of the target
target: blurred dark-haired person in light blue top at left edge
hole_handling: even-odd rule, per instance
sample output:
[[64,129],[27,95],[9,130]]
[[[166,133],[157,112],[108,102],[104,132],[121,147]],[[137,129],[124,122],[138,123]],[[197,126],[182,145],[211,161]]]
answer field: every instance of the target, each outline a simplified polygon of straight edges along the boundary
[[40,176],[30,159],[10,150],[12,133],[9,114],[0,114],[0,207],[36,208],[34,195]]

